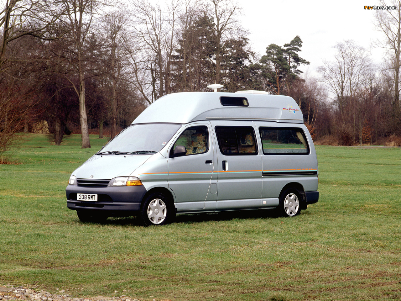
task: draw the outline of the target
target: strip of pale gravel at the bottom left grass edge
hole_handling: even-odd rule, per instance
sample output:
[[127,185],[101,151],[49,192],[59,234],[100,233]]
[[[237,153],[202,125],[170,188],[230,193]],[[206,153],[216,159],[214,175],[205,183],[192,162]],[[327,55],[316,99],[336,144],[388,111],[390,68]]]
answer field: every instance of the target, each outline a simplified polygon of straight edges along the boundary
[[[43,289],[30,289],[26,287],[0,286],[0,300],[33,300],[33,301],[144,301],[144,299],[131,299],[126,295],[119,297],[72,297],[64,289],[57,289],[59,293],[51,294]],[[118,293],[114,291],[114,293]],[[148,300],[158,301],[150,296]]]

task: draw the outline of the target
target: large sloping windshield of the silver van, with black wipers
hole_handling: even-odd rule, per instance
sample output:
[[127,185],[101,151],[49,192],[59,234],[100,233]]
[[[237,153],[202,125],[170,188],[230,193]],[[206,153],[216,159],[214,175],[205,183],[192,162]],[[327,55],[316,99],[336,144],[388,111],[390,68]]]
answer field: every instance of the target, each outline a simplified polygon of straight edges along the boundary
[[148,155],[159,152],[181,127],[180,124],[134,124],[120,132],[97,153]]

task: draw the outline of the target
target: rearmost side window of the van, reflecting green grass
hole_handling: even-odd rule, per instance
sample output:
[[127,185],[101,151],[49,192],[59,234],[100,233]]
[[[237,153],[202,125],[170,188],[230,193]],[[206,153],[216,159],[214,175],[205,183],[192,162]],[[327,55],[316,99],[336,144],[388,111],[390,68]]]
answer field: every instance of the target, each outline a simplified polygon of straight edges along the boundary
[[265,155],[307,155],[309,146],[300,128],[259,128]]

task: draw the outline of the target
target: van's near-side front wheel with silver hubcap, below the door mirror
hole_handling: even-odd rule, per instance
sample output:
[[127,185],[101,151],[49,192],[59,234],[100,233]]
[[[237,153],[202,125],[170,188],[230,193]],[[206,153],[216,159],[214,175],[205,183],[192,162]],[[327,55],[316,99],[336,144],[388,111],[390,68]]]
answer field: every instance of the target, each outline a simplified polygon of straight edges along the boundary
[[151,193],[142,203],[141,219],[144,226],[164,225],[172,222],[174,217],[174,205],[163,193]]

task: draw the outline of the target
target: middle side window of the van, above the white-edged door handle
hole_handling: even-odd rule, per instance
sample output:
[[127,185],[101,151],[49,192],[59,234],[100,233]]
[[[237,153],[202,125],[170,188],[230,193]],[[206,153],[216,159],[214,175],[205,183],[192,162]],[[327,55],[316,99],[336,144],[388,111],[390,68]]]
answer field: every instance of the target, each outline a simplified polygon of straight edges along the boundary
[[250,126],[216,126],[217,141],[224,155],[257,155],[255,132]]

